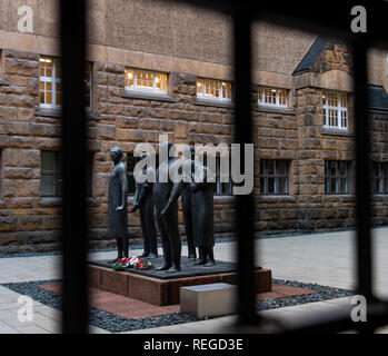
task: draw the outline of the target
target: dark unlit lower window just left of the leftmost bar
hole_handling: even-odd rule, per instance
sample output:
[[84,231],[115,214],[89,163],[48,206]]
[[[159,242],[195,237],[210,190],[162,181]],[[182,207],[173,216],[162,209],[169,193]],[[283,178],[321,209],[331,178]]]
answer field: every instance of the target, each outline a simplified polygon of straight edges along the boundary
[[43,197],[59,197],[61,187],[60,154],[57,151],[41,151],[40,194]]

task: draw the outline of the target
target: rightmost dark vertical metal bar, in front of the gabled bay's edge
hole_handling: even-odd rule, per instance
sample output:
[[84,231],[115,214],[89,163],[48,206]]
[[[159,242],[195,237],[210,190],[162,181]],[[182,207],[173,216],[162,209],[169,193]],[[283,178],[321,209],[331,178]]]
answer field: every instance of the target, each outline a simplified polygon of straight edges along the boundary
[[355,72],[355,151],[356,151],[356,228],[357,228],[357,293],[372,298],[372,266],[370,235],[369,179],[369,113],[367,93],[367,47],[352,43]]

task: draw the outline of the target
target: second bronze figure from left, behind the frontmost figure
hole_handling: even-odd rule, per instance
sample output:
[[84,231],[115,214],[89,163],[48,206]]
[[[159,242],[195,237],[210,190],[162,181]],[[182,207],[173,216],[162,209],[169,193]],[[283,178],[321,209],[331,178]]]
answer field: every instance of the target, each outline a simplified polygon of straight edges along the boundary
[[[147,156],[149,156],[149,154],[143,152],[141,159],[145,159]],[[153,171],[153,168],[145,167],[143,174],[147,175],[150,170]],[[131,211],[136,211],[137,209],[140,210],[140,224],[145,247],[141,257],[156,258],[158,257],[158,237],[153,215],[153,184],[148,180],[136,184]]]

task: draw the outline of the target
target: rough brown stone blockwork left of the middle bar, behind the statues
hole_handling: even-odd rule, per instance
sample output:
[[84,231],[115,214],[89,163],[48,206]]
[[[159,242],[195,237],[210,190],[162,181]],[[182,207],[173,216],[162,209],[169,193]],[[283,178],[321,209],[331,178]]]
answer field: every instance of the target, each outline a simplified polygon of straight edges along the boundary
[[[40,196],[40,152],[59,150],[60,118],[40,113],[39,55],[3,51],[0,86],[0,253],[58,249],[60,198]],[[90,210],[91,247],[112,246],[107,237],[109,151],[120,146],[132,152],[138,142],[158,144],[159,134],[176,142],[231,142],[232,109],[195,102],[196,77],[170,75],[170,100],[131,98],[125,93],[125,67],[94,63],[93,111],[88,120],[93,154]],[[126,161],[126,155],[123,158]],[[129,206],[132,197],[129,196]],[[232,198],[216,196],[218,235],[232,230]],[[180,230],[183,219],[179,214]],[[140,237],[139,214],[129,212],[131,238]]]

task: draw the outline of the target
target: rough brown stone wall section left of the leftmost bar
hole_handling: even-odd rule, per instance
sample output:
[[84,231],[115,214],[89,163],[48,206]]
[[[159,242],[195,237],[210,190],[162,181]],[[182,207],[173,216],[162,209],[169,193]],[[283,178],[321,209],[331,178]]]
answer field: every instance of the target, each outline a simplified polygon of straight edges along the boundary
[[[0,86],[0,251],[58,247],[58,201],[40,197],[40,150],[58,149],[58,119],[34,115],[39,55],[3,51]],[[22,247],[20,247],[20,245]]]

